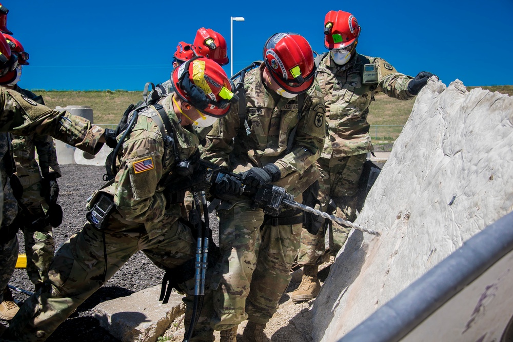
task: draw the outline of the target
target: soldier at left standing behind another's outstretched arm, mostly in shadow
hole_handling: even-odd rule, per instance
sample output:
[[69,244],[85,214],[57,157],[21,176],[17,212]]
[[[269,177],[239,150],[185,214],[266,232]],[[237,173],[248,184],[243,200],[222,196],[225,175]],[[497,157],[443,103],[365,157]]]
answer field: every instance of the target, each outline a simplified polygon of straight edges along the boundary
[[[28,65],[28,53],[23,45],[9,34],[4,34],[10,45],[11,52],[18,55],[18,66],[15,70],[8,72],[0,77],[0,85],[7,89],[13,89],[18,93],[44,105],[43,98],[34,93],[22,89],[18,86],[18,81],[22,73],[22,67]],[[52,226],[50,225],[50,215],[53,219],[61,216],[62,210],[56,204],[58,195],[58,186],[56,178],[61,176],[61,170],[57,164],[57,153],[53,144],[53,139],[46,135],[31,136],[11,136],[12,154],[14,156],[16,176],[22,185],[22,194],[19,198],[20,208],[18,210],[17,223],[21,225],[25,236],[25,251],[27,254],[27,273],[29,279],[38,289],[44,280],[48,277],[48,268],[54,254],[54,242],[52,236]],[[35,150],[37,149],[40,164],[35,160]],[[43,175],[43,178],[41,177]],[[43,185],[46,185],[43,189]],[[51,201],[53,212],[47,202],[50,198],[50,192],[53,190],[54,196]],[[4,290],[7,297],[12,297],[8,288]],[[4,304],[4,303],[3,303]],[[6,307],[12,308],[8,313],[2,312],[0,316],[14,317],[17,312],[17,306],[14,301],[7,303]]]

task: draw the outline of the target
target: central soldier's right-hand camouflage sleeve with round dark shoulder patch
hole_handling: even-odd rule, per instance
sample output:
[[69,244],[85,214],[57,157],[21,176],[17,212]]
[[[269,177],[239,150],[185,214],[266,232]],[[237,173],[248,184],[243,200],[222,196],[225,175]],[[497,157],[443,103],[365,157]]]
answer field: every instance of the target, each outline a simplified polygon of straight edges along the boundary
[[326,135],[326,108],[321,89],[314,85],[313,93],[305,95],[304,115],[298,123],[291,151],[274,164],[282,178],[291,172],[302,174],[321,155]]

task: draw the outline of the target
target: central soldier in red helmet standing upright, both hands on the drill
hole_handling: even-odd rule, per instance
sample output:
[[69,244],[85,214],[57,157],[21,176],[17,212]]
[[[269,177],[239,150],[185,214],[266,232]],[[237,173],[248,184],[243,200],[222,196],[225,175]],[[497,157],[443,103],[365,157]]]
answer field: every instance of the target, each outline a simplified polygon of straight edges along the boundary
[[[313,54],[301,35],[278,33],[265,44],[264,60],[246,73],[247,106],[234,106],[214,125],[204,158],[243,172],[246,186],[275,184],[301,200],[318,176],[314,164],[325,136]],[[248,319],[244,340],[268,341],[264,328],[289,284],[302,215],[287,210],[268,217],[252,210],[247,197],[236,196],[238,190],[233,193],[218,208],[222,259],[211,283],[211,325],[221,330],[222,342],[232,342],[239,323]]]

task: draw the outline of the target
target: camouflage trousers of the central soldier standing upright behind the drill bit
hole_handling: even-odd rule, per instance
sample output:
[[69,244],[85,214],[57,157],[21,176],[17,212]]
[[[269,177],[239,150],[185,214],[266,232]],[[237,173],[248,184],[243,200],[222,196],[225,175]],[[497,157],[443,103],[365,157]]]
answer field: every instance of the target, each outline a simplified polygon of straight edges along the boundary
[[212,279],[215,330],[246,319],[266,324],[290,282],[302,224],[273,225],[273,219],[264,223],[264,212],[250,206],[249,199],[241,198],[231,208],[218,210],[222,257]]

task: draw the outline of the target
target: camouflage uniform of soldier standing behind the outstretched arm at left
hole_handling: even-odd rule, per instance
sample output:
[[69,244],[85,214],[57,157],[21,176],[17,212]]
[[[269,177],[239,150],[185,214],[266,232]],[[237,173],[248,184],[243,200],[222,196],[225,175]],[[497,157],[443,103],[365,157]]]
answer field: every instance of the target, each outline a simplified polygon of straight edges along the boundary
[[[19,88],[15,91],[44,105],[41,96]],[[39,163],[35,160],[35,150]],[[57,163],[57,153],[52,137],[45,135],[15,136],[12,139],[12,152],[16,163],[16,175],[23,186],[21,198],[24,215],[31,217],[31,222],[45,217],[48,204],[41,195],[41,180],[51,173],[53,177],[61,176]],[[36,287],[48,277],[48,268],[54,254],[52,227],[47,225],[27,225],[22,227],[25,236],[25,252],[27,253],[27,273]]]

